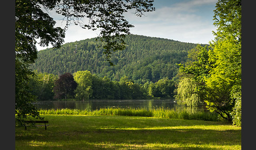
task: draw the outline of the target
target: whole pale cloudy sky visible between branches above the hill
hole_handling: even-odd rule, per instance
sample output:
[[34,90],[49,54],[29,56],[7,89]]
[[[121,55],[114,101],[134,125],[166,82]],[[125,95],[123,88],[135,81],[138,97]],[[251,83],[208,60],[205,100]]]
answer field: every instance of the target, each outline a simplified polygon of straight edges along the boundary
[[[195,44],[209,44],[214,39],[212,31],[216,30],[213,25],[213,10],[218,0],[155,0],[155,11],[146,12],[144,16],[135,16],[135,10],[129,10],[124,16],[134,25],[130,29],[131,34],[150,37],[160,37]],[[62,16],[48,12],[56,21],[56,26],[63,27]],[[68,26],[64,44],[88,38],[94,38],[100,31],[83,29],[74,24]],[[46,49],[36,45],[37,50]],[[52,46],[48,46],[52,47]]]

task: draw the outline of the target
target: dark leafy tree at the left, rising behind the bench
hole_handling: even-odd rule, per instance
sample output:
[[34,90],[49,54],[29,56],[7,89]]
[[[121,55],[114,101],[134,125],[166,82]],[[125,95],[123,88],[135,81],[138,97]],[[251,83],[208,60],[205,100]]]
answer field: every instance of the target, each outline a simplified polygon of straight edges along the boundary
[[[60,47],[63,43],[64,30],[54,27],[55,21],[44,13],[42,1],[15,1],[15,114],[16,121],[21,123],[27,115],[39,117],[32,104],[35,99],[24,92],[28,87],[29,63],[37,58],[36,39],[41,46],[52,44]],[[48,2],[49,3],[49,2]]]

